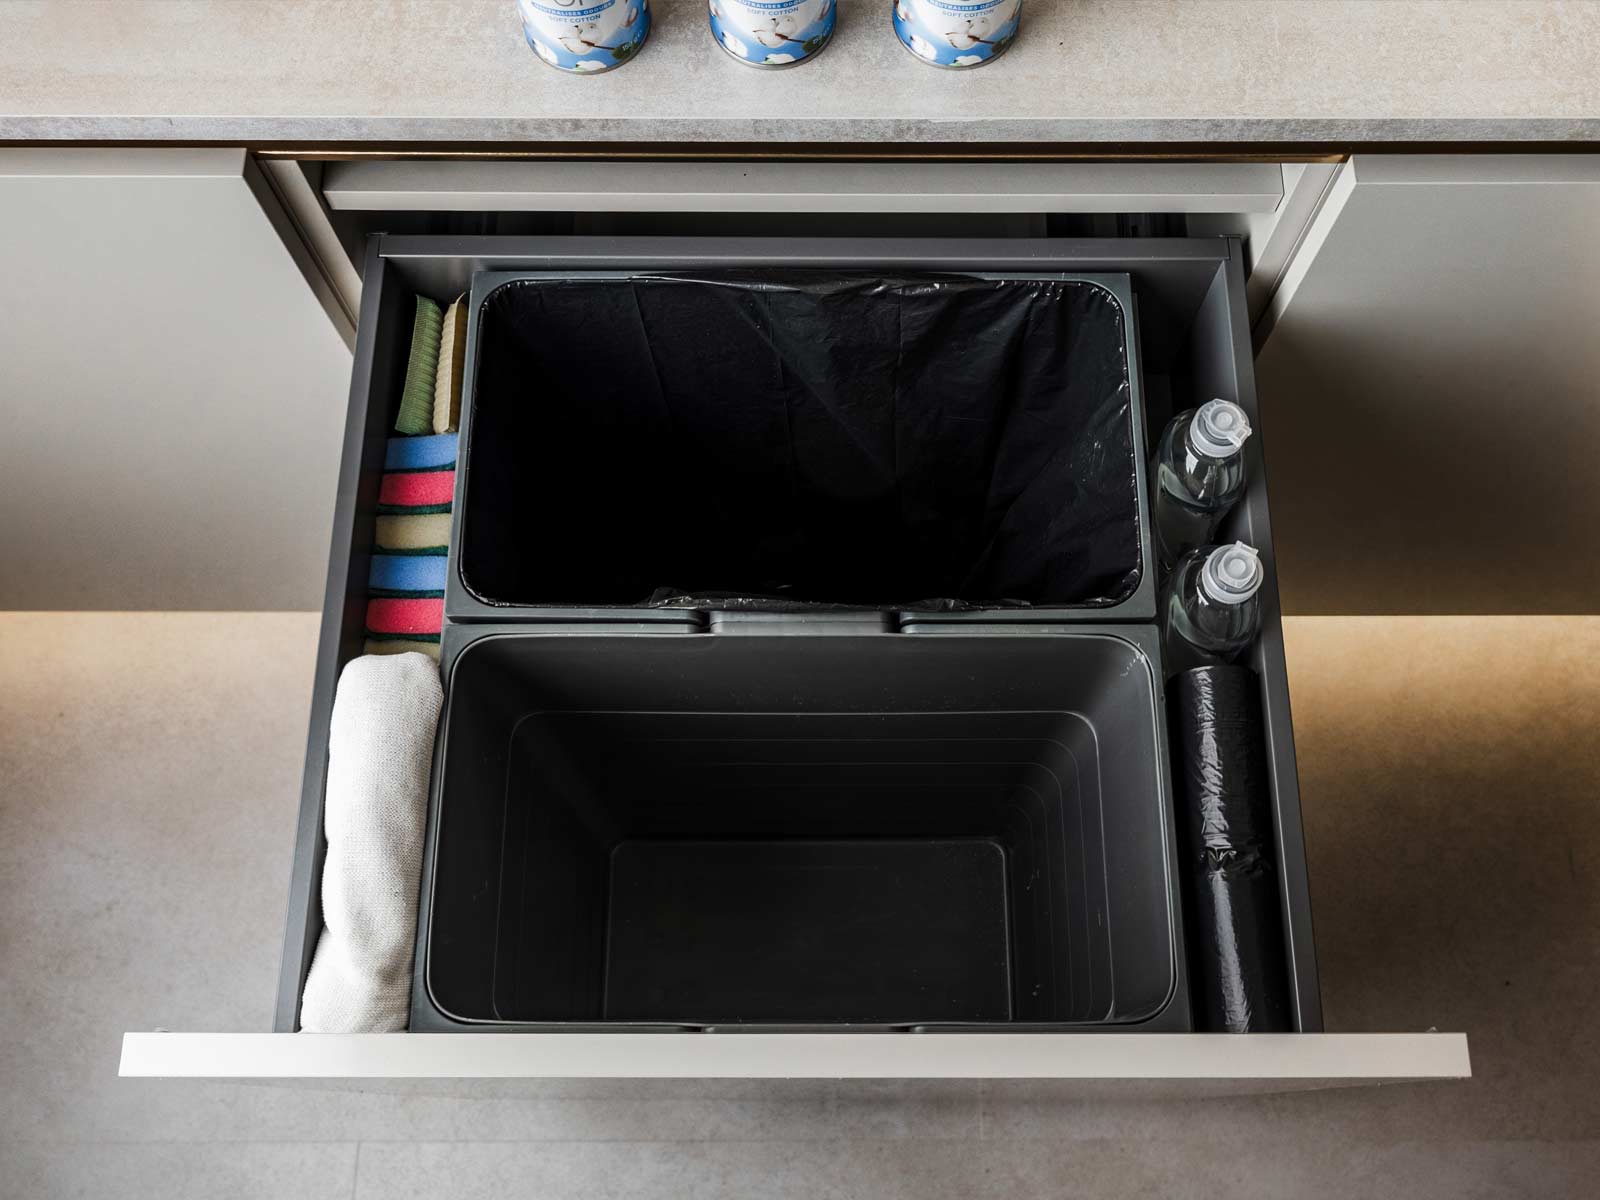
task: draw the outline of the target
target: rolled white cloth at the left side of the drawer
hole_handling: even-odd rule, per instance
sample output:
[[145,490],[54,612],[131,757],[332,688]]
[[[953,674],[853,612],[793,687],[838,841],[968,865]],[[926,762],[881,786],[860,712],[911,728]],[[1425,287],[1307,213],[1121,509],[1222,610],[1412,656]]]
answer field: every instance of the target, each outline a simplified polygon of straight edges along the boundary
[[410,1022],[427,779],[443,688],[426,654],[368,654],[339,675],[322,824],[322,936],[301,995],[307,1034]]

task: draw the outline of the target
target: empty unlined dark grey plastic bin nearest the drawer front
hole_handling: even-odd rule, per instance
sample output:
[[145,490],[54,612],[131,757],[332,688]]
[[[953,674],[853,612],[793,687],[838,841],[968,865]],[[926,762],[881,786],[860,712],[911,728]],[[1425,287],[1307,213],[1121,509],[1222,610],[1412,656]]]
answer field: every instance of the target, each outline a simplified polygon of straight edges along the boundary
[[480,635],[422,1026],[1187,1029],[1155,696],[1106,634]]

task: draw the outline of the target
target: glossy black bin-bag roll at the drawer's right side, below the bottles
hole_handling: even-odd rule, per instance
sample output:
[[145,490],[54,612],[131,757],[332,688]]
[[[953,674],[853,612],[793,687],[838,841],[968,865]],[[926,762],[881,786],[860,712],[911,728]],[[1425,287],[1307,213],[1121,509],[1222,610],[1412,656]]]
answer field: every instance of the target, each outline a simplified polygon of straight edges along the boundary
[[1168,702],[1195,1027],[1291,1032],[1261,680],[1195,667],[1173,677]]

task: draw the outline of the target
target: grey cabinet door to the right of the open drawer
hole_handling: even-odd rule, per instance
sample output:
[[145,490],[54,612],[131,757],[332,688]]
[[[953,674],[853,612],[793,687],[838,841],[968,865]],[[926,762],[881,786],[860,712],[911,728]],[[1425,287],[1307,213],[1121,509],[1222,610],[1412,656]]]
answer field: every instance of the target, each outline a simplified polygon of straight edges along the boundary
[[1256,338],[1285,611],[1600,606],[1600,155],[1357,155]]

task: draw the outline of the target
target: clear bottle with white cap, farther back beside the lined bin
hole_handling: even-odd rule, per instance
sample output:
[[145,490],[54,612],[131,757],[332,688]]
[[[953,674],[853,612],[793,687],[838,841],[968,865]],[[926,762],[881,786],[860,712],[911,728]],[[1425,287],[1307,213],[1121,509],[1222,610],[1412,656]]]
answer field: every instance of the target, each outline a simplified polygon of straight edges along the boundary
[[1216,538],[1216,526],[1245,491],[1240,451],[1248,438],[1250,418],[1232,400],[1208,400],[1162,430],[1150,504],[1162,571]]

